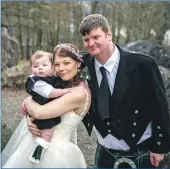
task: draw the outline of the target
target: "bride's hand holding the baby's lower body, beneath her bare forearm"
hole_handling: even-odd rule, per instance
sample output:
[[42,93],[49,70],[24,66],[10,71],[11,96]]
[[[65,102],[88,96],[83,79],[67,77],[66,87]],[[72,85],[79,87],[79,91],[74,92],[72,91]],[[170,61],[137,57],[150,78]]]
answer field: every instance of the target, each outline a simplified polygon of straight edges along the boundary
[[37,128],[37,126],[33,123],[33,121],[34,121],[34,118],[32,118],[32,117],[28,117],[27,118],[28,120],[27,120],[27,125],[28,125],[28,130],[33,134],[33,135],[36,135],[36,136],[40,136],[41,135],[41,130],[39,130],[38,128]]

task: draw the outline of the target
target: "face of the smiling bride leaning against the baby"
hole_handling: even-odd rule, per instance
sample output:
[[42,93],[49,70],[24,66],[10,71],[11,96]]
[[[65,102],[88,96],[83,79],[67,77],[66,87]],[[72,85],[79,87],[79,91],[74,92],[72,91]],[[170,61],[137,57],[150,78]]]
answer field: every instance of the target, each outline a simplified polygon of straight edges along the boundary
[[64,81],[71,80],[77,74],[80,64],[80,62],[75,61],[69,56],[59,56],[56,54],[54,57],[55,72]]

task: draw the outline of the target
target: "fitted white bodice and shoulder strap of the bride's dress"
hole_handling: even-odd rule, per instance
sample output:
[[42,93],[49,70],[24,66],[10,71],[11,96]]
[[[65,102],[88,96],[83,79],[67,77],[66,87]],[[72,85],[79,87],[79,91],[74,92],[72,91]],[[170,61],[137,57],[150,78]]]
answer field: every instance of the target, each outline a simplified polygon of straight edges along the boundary
[[70,141],[71,137],[73,136],[74,132],[77,129],[77,126],[81,123],[84,117],[84,113],[87,111],[89,99],[87,91],[86,94],[87,94],[86,102],[84,105],[84,109],[80,115],[76,114],[74,111],[70,111],[61,116],[61,122],[56,126],[53,133],[53,137],[51,140],[52,144],[58,141]]

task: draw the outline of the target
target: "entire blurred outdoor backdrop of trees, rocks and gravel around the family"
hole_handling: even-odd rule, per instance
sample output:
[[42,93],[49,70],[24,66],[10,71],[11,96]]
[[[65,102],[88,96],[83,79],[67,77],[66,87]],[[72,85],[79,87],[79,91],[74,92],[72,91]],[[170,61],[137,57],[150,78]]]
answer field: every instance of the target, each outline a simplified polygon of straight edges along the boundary
[[[79,24],[92,13],[104,15],[113,42],[126,50],[156,58],[170,105],[170,2],[1,2],[2,31],[2,149],[23,117],[22,101],[29,75],[29,59],[36,50],[52,52],[63,42],[83,49]],[[88,167],[93,166],[96,138],[88,137],[83,125],[78,143]],[[170,168],[170,155],[163,167]]]

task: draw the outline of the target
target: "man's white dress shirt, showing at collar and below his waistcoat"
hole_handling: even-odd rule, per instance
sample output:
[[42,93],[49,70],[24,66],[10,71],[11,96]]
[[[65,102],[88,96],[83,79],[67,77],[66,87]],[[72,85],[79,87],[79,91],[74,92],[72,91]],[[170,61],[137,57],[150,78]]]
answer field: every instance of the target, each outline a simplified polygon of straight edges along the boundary
[[[116,78],[116,74],[117,74],[117,70],[118,70],[119,61],[120,61],[120,52],[116,46],[115,46],[115,50],[114,50],[112,56],[109,58],[109,60],[104,65],[101,65],[95,59],[95,71],[96,71],[96,76],[97,76],[97,80],[98,80],[98,85],[100,86],[100,83],[102,80],[102,74],[100,72],[100,67],[103,66],[106,69],[106,74],[107,74],[107,79],[108,79],[108,84],[109,84],[111,94],[113,93],[113,89],[114,89],[115,78]],[[130,149],[128,144],[123,139],[119,140],[111,134],[108,134],[105,138],[103,138],[100,135],[100,133],[97,131],[95,126],[93,127],[93,129],[97,135],[98,142],[101,145],[103,145],[104,147],[106,147],[108,149],[111,148],[114,150],[125,150],[125,151]],[[151,135],[152,135],[152,132],[151,132],[151,122],[150,122],[149,125],[147,126],[144,134],[142,135],[141,139],[139,140],[139,142],[137,144],[150,138]]]

